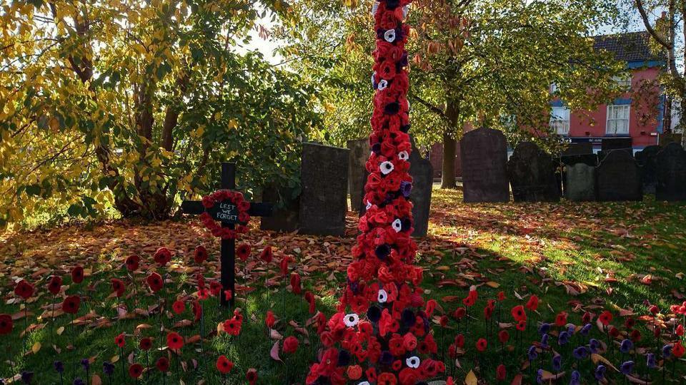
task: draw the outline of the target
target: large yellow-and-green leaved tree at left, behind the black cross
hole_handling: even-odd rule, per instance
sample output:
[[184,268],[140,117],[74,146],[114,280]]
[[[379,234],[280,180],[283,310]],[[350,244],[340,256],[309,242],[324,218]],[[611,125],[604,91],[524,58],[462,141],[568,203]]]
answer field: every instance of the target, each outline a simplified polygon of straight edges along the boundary
[[[166,217],[215,188],[297,184],[317,124],[299,76],[239,53],[280,0],[29,0],[0,8],[0,222],[69,207]],[[276,16],[275,16],[276,17]],[[210,167],[212,165],[212,167]]]

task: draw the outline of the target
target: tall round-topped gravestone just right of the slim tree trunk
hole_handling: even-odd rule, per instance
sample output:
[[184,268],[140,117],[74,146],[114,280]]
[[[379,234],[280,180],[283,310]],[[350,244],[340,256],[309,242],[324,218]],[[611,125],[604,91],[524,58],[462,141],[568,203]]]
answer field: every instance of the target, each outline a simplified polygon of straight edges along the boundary
[[509,202],[507,141],[499,130],[478,128],[459,141],[464,202]]

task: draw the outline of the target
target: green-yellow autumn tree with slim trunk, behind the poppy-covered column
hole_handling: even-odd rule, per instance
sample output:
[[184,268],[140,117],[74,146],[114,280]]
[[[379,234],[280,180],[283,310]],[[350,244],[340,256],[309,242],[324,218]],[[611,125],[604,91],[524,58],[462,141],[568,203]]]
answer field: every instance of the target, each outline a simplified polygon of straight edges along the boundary
[[[281,29],[284,54],[298,58],[294,66],[326,95],[333,140],[367,130],[371,7],[372,1],[293,1],[299,22]],[[455,185],[454,148],[467,123],[500,128],[513,143],[532,136],[555,143],[548,127],[552,97],[590,110],[617,91],[612,76],[621,63],[594,51],[590,38],[613,11],[593,0],[412,3],[412,132],[420,143],[443,143],[442,187]]]

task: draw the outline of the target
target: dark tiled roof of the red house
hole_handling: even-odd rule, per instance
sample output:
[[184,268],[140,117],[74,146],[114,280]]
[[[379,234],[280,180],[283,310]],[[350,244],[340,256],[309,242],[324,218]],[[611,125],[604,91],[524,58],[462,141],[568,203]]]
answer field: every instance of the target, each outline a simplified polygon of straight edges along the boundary
[[650,50],[647,31],[629,32],[626,34],[601,35],[593,37],[593,48],[615,53],[615,59],[621,61],[665,61],[664,53]]

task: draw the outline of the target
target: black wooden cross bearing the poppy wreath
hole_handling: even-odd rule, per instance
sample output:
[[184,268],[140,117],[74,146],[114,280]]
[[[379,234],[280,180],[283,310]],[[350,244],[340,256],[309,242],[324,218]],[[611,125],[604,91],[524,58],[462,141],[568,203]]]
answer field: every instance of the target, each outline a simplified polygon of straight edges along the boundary
[[[234,190],[236,188],[236,164],[222,163],[222,190]],[[274,207],[270,203],[250,203],[248,214],[251,217],[271,217]],[[181,210],[185,214],[200,215],[205,212],[205,207],[199,200],[184,200]],[[214,215],[213,215],[214,217]],[[233,217],[233,216],[232,216]],[[222,220],[222,227],[234,230],[234,220]],[[236,240],[222,240],[222,306],[234,306],[236,297]],[[231,290],[231,300],[227,300],[226,290]]]

